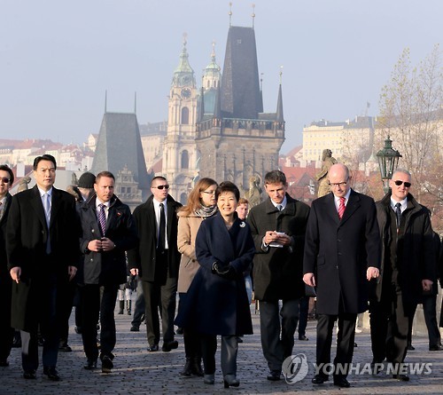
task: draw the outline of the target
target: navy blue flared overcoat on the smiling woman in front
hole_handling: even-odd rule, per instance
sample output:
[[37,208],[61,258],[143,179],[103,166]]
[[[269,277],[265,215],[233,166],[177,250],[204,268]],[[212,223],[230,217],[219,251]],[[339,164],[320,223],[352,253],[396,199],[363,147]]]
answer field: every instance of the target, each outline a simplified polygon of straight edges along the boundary
[[[243,273],[253,261],[254,250],[251,230],[245,221],[237,218],[229,230],[220,213],[203,221],[196,238],[200,267],[175,324],[208,335],[252,334]],[[232,265],[237,273],[235,280],[212,273],[215,261]]]

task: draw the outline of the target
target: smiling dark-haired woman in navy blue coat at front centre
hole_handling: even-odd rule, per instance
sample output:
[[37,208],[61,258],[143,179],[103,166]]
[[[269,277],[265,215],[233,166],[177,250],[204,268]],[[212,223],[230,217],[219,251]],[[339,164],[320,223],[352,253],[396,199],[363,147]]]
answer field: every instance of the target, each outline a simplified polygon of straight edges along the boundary
[[225,181],[215,196],[219,212],[198,229],[196,256],[200,268],[175,324],[201,334],[207,384],[214,384],[216,336],[221,335],[221,371],[228,388],[240,383],[237,336],[253,333],[243,273],[255,249],[249,225],[237,217],[237,186]]

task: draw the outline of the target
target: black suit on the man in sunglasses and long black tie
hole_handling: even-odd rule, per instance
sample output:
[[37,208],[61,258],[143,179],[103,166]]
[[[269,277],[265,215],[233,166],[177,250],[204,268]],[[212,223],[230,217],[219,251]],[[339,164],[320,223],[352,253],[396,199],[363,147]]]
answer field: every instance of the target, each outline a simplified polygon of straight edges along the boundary
[[128,251],[129,269],[137,268],[146,304],[145,320],[148,343],[159,344],[159,305],[161,306],[162,333],[165,343],[174,340],[175,294],[177,291],[180,253],[177,249],[177,209],[182,207],[167,195],[167,245],[157,251],[157,222],[153,196],[134,210],[139,243]]

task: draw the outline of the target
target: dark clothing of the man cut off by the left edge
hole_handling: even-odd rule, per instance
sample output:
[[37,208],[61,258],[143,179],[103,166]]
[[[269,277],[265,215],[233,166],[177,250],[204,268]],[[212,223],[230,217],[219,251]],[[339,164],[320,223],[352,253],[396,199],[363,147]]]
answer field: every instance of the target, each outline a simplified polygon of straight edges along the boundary
[[6,257],[6,225],[11,207],[11,194],[6,194],[3,216],[0,219],[0,361],[6,361],[12,348],[14,329],[11,327],[12,278],[8,270]]

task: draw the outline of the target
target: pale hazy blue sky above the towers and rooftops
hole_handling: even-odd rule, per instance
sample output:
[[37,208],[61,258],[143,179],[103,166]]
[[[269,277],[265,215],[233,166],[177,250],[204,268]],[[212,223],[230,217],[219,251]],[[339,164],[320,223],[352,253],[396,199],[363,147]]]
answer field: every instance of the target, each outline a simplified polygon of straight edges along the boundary
[[[286,141],[311,122],[377,115],[405,48],[418,64],[443,38],[442,0],[232,0],[231,24],[254,29],[264,111],[280,70]],[[252,4],[255,4],[253,9]],[[81,144],[105,112],[167,120],[187,34],[198,83],[215,42],[222,67],[229,1],[0,0],[0,138]],[[369,107],[367,107],[369,103]]]

